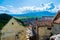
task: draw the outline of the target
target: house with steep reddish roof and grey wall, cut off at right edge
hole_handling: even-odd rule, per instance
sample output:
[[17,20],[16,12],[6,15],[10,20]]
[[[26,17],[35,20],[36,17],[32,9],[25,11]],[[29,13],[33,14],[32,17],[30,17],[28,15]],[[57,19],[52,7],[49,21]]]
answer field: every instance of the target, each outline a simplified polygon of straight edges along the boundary
[[57,15],[55,16],[53,24],[53,34],[60,34],[60,11],[58,11]]

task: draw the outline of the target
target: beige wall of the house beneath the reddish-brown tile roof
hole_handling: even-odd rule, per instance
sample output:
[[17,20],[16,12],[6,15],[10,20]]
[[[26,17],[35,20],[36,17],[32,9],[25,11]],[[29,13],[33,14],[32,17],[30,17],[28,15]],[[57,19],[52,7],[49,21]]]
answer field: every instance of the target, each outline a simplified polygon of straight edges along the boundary
[[49,30],[49,27],[39,27],[39,39],[46,39],[49,38],[49,36],[51,35],[50,33],[52,32],[52,29]]

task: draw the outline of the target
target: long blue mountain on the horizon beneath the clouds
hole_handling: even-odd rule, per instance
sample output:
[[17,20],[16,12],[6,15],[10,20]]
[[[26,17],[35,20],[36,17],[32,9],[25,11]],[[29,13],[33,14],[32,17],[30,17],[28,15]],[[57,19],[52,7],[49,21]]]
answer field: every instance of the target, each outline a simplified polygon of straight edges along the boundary
[[56,13],[52,13],[52,12],[48,12],[48,11],[30,11],[30,12],[26,12],[24,14],[10,14],[12,16],[15,17],[40,17],[40,16],[55,16]]

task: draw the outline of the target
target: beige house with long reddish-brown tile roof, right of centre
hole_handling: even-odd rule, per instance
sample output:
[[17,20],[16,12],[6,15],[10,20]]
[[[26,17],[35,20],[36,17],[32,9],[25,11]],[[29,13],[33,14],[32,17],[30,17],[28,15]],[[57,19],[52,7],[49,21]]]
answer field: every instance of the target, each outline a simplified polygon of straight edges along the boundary
[[49,37],[51,35],[53,28],[52,17],[49,16],[42,17],[42,20],[39,21],[38,19],[36,19],[35,22],[37,23],[38,26],[38,34],[40,40],[44,39],[45,37]]

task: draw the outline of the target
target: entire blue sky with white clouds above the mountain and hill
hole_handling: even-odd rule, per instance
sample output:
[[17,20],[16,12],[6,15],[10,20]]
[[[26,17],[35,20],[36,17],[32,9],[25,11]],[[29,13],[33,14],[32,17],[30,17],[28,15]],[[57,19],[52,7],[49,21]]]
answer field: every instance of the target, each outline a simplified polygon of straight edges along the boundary
[[60,0],[0,0],[0,13],[23,14],[27,10],[57,12]]

